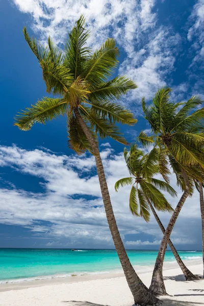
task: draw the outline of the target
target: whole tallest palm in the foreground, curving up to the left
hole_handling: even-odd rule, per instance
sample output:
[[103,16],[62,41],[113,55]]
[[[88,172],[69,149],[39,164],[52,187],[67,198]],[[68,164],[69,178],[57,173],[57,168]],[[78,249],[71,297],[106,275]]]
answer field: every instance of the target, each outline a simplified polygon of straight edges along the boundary
[[136,274],[121,240],[97,144],[97,135],[126,144],[115,123],[133,125],[137,120],[130,111],[113,101],[137,86],[125,77],[109,79],[118,63],[119,50],[115,40],[109,38],[92,53],[86,45],[90,32],[85,29],[84,16],[69,34],[64,53],[50,38],[48,46],[44,47],[30,38],[25,28],[23,33],[40,63],[47,92],[56,97],[37,101],[15,118],[15,125],[27,131],[36,122],[46,123],[59,115],[67,115],[69,146],[77,154],[89,150],[95,157],[107,221],[134,301],[152,305],[158,299]]

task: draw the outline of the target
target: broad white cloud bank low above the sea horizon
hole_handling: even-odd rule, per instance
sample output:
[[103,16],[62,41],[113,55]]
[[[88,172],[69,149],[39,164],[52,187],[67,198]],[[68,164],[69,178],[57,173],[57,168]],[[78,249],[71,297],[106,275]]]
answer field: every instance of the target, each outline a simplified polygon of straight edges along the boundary
[[[107,145],[101,156],[113,209],[124,242],[126,241],[127,246],[156,245],[156,241],[162,238],[162,233],[154,218],[146,223],[143,219],[131,215],[128,205],[129,187],[122,188],[118,193],[114,191],[115,182],[129,175],[122,152],[116,154]],[[28,228],[36,239],[43,235],[51,242],[54,241],[53,245],[57,243],[55,240],[66,238],[68,245],[82,243],[85,246],[94,243],[98,246],[113,247],[93,156],[65,156],[47,150],[25,150],[17,146],[1,145],[0,161],[1,167],[11,167],[19,175],[23,173],[38,177],[39,184],[44,188],[43,192],[19,189],[13,184],[1,188],[0,223]],[[171,185],[177,188],[174,176]],[[182,193],[180,190],[178,192],[180,197]],[[175,207],[177,200],[169,195],[167,198]],[[182,240],[186,241],[186,244],[192,243],[191,241],[199,243],[195,232],[195,223],[197,224],[200,218],[197,193],[193,203],[196,205],[192,205],[191,198],[186,201],[176,222],[172,240],[177,239],[177,244],[182,244]],[[165,213],[159,215],[166,226],[170,216]],[[186,230],[184,220],[188,219],[191,222]],[[126,239],[126,235],[150,235],[151,239]],[[150,241],[149,244],[147,241]]]

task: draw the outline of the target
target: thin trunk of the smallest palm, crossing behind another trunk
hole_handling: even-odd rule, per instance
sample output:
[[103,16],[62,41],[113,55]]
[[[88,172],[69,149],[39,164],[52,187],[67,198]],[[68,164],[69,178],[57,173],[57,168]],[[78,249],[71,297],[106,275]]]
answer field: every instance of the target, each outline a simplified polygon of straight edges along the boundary
[[[157,220],[157,223],[159,224],[159,227],[161,228],[162,230],[162,233],[164,234],[165,233],[165,228],[158,216],[158,214],[156,213],[154,207],[151,205],[151,202],[149,201],[149,199],[146,197],[147,201],[148,201],[148,204],[149,204],[149,207],[153,213],[153,215],[155,216],[155,219]],[[172,253],[177,261],[177,263],[179,264],[180,268],[182,269],[182,272],[184,273],[184,276],[186,278],[186,281],[193,281],[195,279],[197,279],[197,275],[194,275],[187,267],[186,265],[183,263],[181,257],[179,256],[178,252],[176,251],[173,243],[171,242],[171,240],[169,239],[168,241],[169,243],[169,246],[172,250]]]

